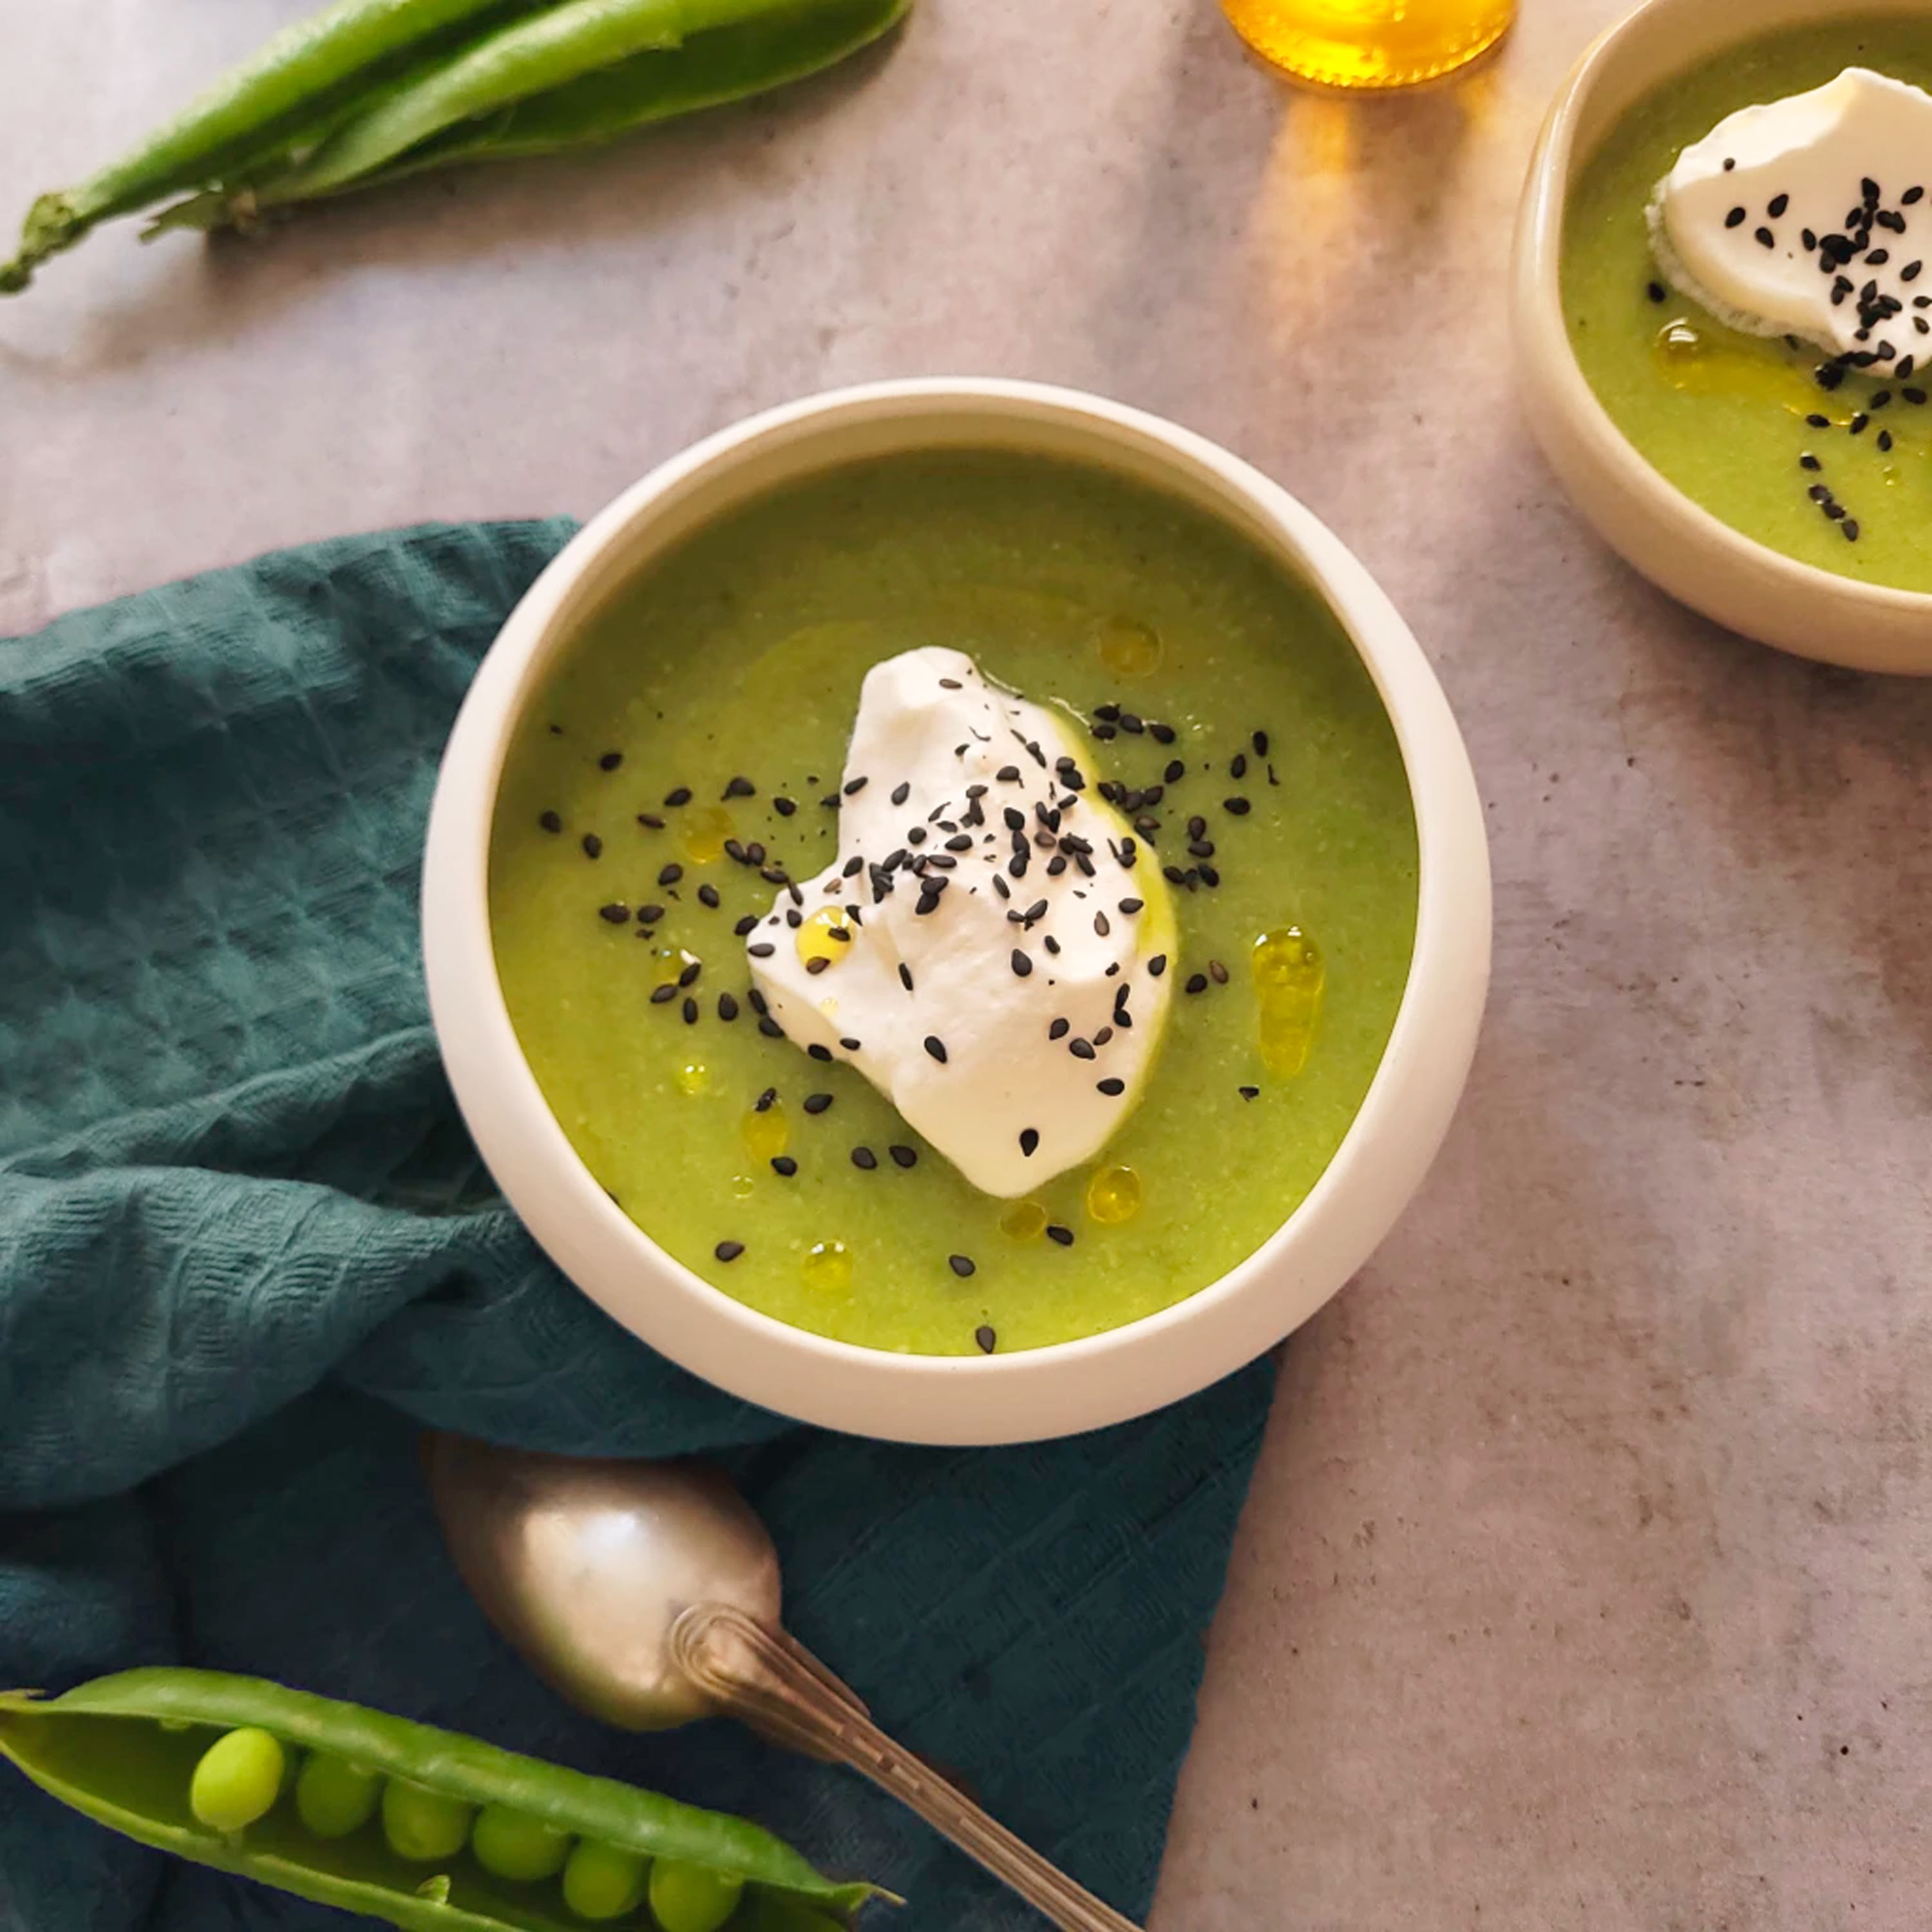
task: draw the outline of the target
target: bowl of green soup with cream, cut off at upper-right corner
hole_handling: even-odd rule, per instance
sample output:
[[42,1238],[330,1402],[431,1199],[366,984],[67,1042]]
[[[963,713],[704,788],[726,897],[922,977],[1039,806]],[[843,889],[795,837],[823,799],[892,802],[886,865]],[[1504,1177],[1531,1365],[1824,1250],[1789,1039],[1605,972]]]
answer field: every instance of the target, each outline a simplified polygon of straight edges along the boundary
[[1629,562],[1932,672],[1932,0],[1648,0],[1551,106],[1513,299],[1532,429]]

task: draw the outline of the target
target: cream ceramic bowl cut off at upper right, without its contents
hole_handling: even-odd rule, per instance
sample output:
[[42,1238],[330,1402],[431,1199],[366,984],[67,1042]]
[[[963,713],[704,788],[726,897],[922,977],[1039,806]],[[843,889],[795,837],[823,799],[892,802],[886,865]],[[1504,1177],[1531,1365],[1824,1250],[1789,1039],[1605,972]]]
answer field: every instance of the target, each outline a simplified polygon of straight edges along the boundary
[[1577,64],[1544,122],[1517,216],[1517,363],[1530,425],[1577,506],[1654,583],[1704,616],[1799,657],[1932,674],[1932,597],[1833,576],[1731,529],[1625,439],[1596,400],[1563,321],[1571,184],[1644,95],[1781,27],[1932,14],[1932,0],[1646,0]]

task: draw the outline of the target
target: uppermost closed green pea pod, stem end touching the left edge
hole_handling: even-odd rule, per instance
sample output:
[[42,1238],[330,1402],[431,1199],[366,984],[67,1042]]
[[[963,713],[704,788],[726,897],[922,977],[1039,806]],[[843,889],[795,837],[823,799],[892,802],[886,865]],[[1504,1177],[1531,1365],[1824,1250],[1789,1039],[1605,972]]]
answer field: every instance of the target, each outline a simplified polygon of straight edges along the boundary
[[139,147],[77,187],[43,195],[27,214],[19,255],[0,263],[0,294],[25,288],[48,255],[73,247],[99,222],[220,180],[299,139],[303,129],[340,114],[346,95],[512,4],[527,12],[543,0],[336,0],[313,19],[296,21]]

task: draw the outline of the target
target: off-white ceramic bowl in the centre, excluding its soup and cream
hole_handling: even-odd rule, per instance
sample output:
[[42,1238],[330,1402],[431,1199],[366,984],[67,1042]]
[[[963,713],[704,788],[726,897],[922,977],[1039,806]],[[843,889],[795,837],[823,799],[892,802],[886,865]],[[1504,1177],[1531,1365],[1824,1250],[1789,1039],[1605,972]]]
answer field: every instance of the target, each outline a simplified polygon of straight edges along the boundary
[[[1312,580],[1395,721],[1420,831],[1416,949],[1387,1053],[1314,1192],[1258,1254],[1188,1300],[1053,1349],[916,1356],[755,1314],[665,1254],[578,1159],[524,1061],[497,980],[489,835],[504,752],[558,651],[692,529],[854,458],[999,446],[1105,464],[1208,508]],[[1121,1422],[1206,1387],[1306,1321],[1422,1180],[1463,1092],[1490,976],[1490,856],[1441,688],[1368,572],[1225,450],[1094,396],[1024,383],[885,383],[817,396],[699,442],[626,491],[531,585],[450,734],[423,871],[429,1005],[456,1099],[510,1206],[556,1265],[688,1370],[806,1422],[900,1441],[999,1443]]]

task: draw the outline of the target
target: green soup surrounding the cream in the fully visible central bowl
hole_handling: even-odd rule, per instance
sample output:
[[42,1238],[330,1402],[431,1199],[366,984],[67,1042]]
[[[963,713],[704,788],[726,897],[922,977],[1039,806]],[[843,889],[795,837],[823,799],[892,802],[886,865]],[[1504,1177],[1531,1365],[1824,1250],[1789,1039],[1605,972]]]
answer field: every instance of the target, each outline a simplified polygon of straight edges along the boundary
[[[1157,788],[1140,862],[1180,881],[1146,1094],[1022,1202],[761,1032],[734,931],[835,856],[860,682],[918,645],[1065,709],[1090,782]],[[1416,883],[1393,726],[1310,585],[1111,471],[937,450],[755,498],[583,624],[512,742],[489,902],[537,1084],[653,1240],[796,1327],[974,1354],[1153,1314],[1281,1227],[1387,1045]]]

